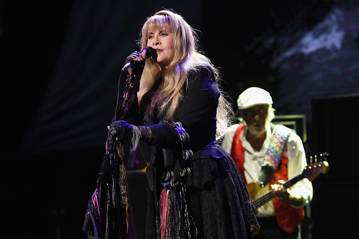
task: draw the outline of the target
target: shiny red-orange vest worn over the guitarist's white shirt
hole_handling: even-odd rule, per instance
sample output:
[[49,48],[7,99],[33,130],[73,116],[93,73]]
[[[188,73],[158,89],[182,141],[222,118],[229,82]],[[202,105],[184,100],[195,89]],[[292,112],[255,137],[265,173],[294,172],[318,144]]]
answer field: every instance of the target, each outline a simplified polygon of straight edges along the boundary
[[[244,176],[244,147],[242,146],[241,139],[239,135],[243,132],[245,128],[244,124],[241,124],[236,129],[236,132],[233,135],[232,140],[232,150],[230,152],[233,161],[236,163],[239,171],[242,174],[244,182],[247,184],[246,177]],[[270,184],[275,184],[277,180],[288,180],[288,153],[285,150],[283,157],[281,158],[281,162],[277,170],[273,173],[273,176],[270,180]],[[278,221],[278,226],[291,234],[300,224],[300,222],[304,219],[304,208],[294,208],[290,206],[288,203],[281,202],[272,199],[274,205],[275,215]]]

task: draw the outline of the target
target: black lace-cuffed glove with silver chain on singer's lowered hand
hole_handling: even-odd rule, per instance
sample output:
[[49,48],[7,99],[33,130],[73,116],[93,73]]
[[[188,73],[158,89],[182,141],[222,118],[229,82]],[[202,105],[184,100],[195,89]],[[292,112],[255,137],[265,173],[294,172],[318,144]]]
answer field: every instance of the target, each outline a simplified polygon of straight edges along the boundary
[[109,132],[116,140],[131,139],[133,150],[137,148],[139,140],[151,143],[153,139],[152,130],[149,126],[132,125],[126,121],[119,120],[109,126]]

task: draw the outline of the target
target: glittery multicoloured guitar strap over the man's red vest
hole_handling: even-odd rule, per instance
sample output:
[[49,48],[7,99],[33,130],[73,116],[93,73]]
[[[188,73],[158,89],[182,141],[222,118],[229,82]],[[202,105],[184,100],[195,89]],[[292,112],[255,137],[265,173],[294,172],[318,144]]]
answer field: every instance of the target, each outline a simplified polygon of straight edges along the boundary
[[277,170],[281,158],[286,150],[286,145],[290,133],[293,129],[290,129],[284,125],[271,124],[272,139],[269,143],[266,156],[262,163],[262,170],[259,172],[258,185],[265,187],[273,176],[273,173]]

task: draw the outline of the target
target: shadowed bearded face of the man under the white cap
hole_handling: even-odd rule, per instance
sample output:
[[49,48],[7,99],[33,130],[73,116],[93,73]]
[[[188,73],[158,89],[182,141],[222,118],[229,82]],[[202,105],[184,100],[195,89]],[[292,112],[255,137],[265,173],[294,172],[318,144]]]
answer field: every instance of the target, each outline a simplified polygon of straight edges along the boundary
[[239,110],[244,121],[248,126],[248,130],[254,135],[261,135],[266,132],[266,119],[268,115],[269,105],[260,104],[252,106],[248,109]]

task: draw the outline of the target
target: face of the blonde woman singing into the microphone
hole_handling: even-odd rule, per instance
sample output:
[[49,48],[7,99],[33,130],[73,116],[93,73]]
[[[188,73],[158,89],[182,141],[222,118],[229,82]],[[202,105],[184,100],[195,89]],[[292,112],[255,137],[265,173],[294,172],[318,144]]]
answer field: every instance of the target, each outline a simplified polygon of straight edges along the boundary
[[154,59],[161,68],[169,66],[173,58],[174,33],[167,30],[155,30],[147,35],[147,46],[157,52],[157,59]]

